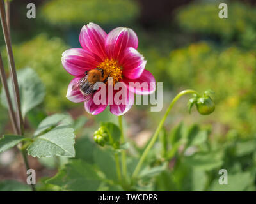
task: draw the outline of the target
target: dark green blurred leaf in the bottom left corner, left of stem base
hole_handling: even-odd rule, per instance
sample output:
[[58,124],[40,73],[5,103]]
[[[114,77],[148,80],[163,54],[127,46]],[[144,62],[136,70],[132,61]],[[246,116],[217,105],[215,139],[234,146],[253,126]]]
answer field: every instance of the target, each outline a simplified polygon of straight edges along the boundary
[[4,180],[0,182],[0,191],[31,191],[31,188],[28,184],[16,180]]

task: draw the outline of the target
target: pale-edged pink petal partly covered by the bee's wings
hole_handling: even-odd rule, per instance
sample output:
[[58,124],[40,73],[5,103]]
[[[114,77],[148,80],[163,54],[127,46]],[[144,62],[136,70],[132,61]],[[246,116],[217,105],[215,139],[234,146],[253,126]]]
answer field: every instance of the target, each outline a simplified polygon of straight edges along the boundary
[[74,103],[80,103],[84,101],[84,96],[80,92],[78,87],[78,82],[82,77],[75,77],[71,80],[70,84],[68,85],[68,91],[67,91],[67,99],[74,102]]

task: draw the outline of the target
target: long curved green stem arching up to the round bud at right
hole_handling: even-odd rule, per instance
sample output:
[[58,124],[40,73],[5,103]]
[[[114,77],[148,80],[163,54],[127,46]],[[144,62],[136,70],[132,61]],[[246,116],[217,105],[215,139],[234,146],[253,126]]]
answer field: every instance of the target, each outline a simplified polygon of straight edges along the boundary
[[156,129],[156,132],[154,133],[154,135],[152,136],[150,142],[148,143],[148,146],[146,147],[146,149],[144,150],[142,156],[140,157],[140,161],[138,162],[133,174],[132,174],[132,180],[136,179],[138,173],[140,172],[141,166],[145,160],[145,158],[147,157],[148,152],[150,151],[150,149],[153,147],[154,143],[157,140],[157,136],[159,135],[159,132],[161,131],[161,128],[163,127],[163,124],[168,116],[168,114],[170,113],[170,110],[172,110],[173,105],[175,105],[175,103],[178,101],[178,99],[181,96],[184,96],[185,94],[196,94],[199,96],[198,92],[188,89],[188,90],[184,90],[179,92],[179,94],[177,94],[177,96],[175,96],[175,98],[173,98],[172,102],[170,103],[168,109],[166,110],[166,112],[164,113],[164,117],[161,119],[161,121],[159,122],[159,125]]

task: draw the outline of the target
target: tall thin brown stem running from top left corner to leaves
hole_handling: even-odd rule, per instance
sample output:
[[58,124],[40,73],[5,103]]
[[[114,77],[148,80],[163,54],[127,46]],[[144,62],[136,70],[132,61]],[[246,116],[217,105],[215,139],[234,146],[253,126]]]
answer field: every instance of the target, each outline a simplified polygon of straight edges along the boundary
[[0,0],[0,13],[1,13],[1,24],[2,24],[3,33],[4,33],[4,41],[6,43],[8,59],[10,62],[10,75],[12,77],[13,91],[15,93],[15,105],[17,108],[18,133],[20,135],[23,135],[24,128],[23,128],[23,119],[22,119],[22,113],[21,113],[21,108],[20,108],[19,85],[18,85],[18,80],[17,80],[17,73],[16,73],[16,69],[15,69],[13,52],[12,52],[12,43],[11,43],[10,33],[8,31],[8,26],[6,24],[3,0]]

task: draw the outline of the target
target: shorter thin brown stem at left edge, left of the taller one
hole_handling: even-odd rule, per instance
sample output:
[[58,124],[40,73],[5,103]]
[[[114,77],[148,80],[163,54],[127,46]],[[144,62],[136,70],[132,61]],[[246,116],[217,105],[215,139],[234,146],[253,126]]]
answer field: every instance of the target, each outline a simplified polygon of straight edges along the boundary
[[6,78],[6,74],[4,71],[1,53],[0,53],[0,77],[1,77],[1,81],[3,84],[4,92],[5,92],[7,103],[8,103],[8,112],[9,112],[10,119],[12,122],[12,128],[13,128],[13,131],[17,134],[18,133],[17,121],[16,121],[15,113],[14,113],[13,107],[12,107],[12,101],[11,101],[10,92],[8,89],[7,78]]

